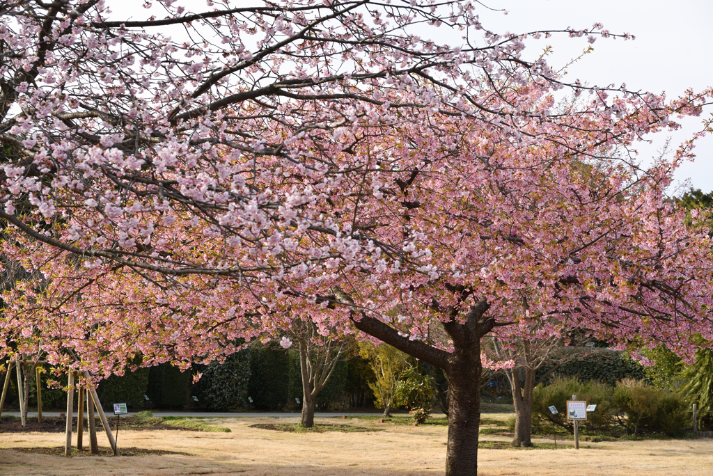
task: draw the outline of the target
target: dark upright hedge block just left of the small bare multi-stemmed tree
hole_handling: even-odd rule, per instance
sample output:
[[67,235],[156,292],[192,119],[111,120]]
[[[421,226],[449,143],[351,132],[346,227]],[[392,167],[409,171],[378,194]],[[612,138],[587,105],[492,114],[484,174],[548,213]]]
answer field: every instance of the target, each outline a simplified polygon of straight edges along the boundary
[[289,392],[289,356],[277,343],[250,346],[247,395],[258,410],[282,410]]

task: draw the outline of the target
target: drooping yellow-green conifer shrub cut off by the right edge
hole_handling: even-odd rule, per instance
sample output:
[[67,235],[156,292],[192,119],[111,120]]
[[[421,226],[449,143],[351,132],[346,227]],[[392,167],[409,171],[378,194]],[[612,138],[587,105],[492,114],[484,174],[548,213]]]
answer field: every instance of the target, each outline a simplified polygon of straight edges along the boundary
[[699,428],[713,428],[713,351],[702,348],[696,351],[695,361],[682,373],[680,391],[690,403],[698,405]]

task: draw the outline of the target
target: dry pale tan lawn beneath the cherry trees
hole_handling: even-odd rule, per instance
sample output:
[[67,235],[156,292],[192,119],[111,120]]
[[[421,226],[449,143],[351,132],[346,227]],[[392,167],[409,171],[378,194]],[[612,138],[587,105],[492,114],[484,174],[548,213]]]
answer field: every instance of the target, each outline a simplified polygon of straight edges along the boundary
[[[488,415],[491,418],[493,415]],[[503,415],[503,418],[505,416]],[[183,430],[120,430],[121,447],[150,448],[187,455],[61,457],[28,454],[14,448],[57,447],[58,433],[0,434],[0,475],[245,475],[245,476],[421,476],[443,474],[445,426],[386,425],[318,418],[317,423],[379,426],[364,433],[287,433],[250,428],[264,423],[294,423],[284,418],[215,420],[231,433]],[[98,435],[100,445],[106,437]],[[88,438],[85,434],[85,441]],[[481,440],[508,438],[481,435]],[[547,440],[552,443],[551,440]],[[536,442],[535,442],[536,443]],[[558,450],[478,452],[481,476],[530,475],[713,475],[713,440],[642,440],[583,443]]]

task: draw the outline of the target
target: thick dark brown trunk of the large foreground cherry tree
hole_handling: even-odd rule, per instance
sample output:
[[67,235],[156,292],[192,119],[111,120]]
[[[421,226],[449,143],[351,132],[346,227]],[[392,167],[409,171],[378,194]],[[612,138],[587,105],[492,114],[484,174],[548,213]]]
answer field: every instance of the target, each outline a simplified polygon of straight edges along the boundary
[[478,474],[478,430],[481,424],[481,350],[475,340],[453,351],[448,379],[448,448],[446,476]]

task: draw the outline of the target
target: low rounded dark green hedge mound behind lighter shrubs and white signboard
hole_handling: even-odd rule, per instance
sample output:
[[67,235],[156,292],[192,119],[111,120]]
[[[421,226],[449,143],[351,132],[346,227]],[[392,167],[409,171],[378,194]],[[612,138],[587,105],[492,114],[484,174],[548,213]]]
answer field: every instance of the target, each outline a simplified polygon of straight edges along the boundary
[[[535,375],[535,381],[550,371],[554,365],[540,368]],[[592,380],[614,386],[615,383],[625,378],[645,379],[646,371],[644,366],[625,352],[597,349],[583,351],[578,358],[563,363],[543,383],[546,384],[555,377],[571,377],[580,381]]]

